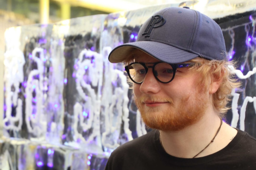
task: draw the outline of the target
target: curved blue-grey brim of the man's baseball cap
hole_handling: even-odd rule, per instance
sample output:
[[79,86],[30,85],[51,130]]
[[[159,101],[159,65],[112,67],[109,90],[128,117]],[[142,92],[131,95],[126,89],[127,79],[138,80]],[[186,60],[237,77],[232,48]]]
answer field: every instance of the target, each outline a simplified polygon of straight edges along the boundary
[[127,58],[127,55],[132,48],[138,48],[160,61],[172,64],[189,61],[198,56],[198,54],[194,54],[164,43],[155,41],[138,41],[126,43],[114,48],[110,52],[108,60],[111,63],[123,62]]

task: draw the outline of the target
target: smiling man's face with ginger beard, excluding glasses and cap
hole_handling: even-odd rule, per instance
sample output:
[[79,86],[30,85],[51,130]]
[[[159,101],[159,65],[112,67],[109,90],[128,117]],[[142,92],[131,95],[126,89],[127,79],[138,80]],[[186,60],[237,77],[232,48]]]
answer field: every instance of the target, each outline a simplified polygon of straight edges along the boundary
[[[159,60],[143,53],[135,61],[154,63]],[[157,81],[152,68],[148,68],[145,80],[133,85],[135,102],[145,124],[162,131],[177,131],[202,118],[210,95],[202,90],[202,85],[197,85],[199,76],[200,73],[189,68],[178,68],[174,79],[164,84]]]

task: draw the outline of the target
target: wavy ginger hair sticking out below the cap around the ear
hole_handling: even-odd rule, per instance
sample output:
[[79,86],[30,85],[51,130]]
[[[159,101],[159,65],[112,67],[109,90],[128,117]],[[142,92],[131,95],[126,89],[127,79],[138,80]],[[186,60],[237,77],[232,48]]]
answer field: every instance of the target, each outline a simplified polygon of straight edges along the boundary
[[219,116],[223,117],[230,109],[227,103],[231,100],[232,90],[241,86],[241,82],[238,81],[235,73],[230,70],[230,66],[234,66],[235,62],[208,60],[201,57],[187,62],[195,63],[189,69],[201,74],[197,85],[203,85],[204,90],[208,90],[207,82],[221,79],[218,90],[213,94],[213,106],[219,112]]

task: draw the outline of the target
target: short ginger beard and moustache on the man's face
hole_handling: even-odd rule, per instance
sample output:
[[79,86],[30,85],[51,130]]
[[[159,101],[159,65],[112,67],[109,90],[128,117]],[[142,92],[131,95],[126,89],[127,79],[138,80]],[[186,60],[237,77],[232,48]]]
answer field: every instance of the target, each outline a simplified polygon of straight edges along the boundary
[[[168,101],[168,109],[165,107],[146,107],[143,101]],[[140,111],[141,118],[146,126],[162,131],[178,131],[196,123],[200,120],[206,108],[208,101],[206,92],[197,92],[192,95],[186,95],[181,98],[182,105],[175,106],[171,98],[157,98],[144,96],[140,99],[135,97],[135,103]],[[178,108],[178,109],[176,109]]]

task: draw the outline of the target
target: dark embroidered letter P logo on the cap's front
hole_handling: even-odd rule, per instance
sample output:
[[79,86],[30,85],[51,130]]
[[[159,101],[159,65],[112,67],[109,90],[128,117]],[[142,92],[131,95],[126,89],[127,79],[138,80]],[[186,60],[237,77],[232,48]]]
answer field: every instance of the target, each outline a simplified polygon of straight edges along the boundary
[[166,20],[162,15],[152,16],[151,21],[148,23],[148,26],[142,35],[149,37],[153,28],[161,27],[165,24],[165,22]]

